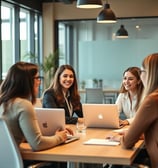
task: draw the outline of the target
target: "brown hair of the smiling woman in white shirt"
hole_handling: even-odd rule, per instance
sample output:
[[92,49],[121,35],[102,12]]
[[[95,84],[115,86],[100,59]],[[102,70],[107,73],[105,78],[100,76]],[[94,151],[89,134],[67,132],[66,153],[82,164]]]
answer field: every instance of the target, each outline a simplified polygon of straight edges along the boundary
[[[126,72],[131,72],[139,81],[139,83],[137,84],[137,88],[136,88],[136,90],[137,90],[137,104],[136,104],[135,109],[137,110],[139,103],[140,103],[140,100],[141,100],[141,97],[142,97],[143,89],[144,89],[143,83],[140,78],[141,70],[138,67],[129,67],[124,71],[123,76]],[[121,93],[127,92],[127,90],[125,89],[123,84],[121,85],[120,92]]]

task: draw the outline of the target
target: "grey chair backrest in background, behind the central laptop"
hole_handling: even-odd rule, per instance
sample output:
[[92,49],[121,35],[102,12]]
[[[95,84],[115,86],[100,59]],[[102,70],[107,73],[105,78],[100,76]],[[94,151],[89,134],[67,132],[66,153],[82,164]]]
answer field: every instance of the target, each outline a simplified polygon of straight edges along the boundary
[[85,102],[94,104],[104,103],[104,94],[102,88],[86,88]]

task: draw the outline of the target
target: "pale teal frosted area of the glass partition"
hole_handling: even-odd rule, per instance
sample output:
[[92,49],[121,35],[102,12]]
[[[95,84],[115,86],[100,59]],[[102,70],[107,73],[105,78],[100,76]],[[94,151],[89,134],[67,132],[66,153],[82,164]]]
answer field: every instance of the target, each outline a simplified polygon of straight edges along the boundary
[[[149,53],[158,52],[158,40],[93,41],[79,43],[79,79],[87,87],[102,79],[104,87],[119,88],[122,74],[130,66],[141,67]],[[149,46],[150,45],[150,46]],[[130,47],[129,47],[130,46]],[[86,64],[85,64],[86,62]]]

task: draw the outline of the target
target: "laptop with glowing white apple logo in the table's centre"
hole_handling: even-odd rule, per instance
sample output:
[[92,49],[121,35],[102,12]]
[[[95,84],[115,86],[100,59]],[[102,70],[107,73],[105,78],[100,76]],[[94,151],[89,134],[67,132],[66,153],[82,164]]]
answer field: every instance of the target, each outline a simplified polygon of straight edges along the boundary
[[83,104],[87,127],[121,128],[116,104]]

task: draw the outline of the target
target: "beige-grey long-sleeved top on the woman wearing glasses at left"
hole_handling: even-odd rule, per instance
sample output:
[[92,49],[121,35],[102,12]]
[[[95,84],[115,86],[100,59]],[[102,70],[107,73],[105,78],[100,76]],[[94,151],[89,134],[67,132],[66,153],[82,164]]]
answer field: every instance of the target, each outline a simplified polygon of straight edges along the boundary
[[1,105],[0,114],[5,116],[18,145],[26,139],[34,151],[39,151],[62,143],[58,135],[49,137],[41,135],[34,107],[30,101],[16,98],[9,103],[7,111],[4,113],[3,111]]

